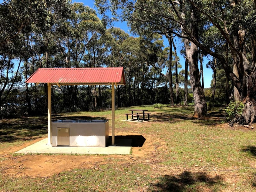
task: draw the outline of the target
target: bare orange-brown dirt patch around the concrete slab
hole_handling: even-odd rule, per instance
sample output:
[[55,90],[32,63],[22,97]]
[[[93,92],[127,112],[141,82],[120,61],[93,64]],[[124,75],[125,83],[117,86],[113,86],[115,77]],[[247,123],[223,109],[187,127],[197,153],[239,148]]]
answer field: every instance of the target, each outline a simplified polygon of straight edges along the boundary
[[[119,135],[127,133],[119,132]],[[24,145],[12,147],[0,152],[2,173],[14,177],[47,177],[75,168],[92,168],[99,164],[111,163],[111,159],[118,159],[118,163],[134,162],[138,157],[154,151],[153,140],[147,138],[142,147],[132,147],[132,155],[23,155],[13,156],[12,153],[42,140],[36,139]],[[156,140],[154,140],[156,142]]]

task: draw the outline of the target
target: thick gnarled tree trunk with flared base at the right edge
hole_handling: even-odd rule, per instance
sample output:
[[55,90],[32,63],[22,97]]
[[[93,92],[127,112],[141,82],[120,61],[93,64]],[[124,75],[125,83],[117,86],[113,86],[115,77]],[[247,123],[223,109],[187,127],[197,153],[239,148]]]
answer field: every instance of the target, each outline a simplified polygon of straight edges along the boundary
[[[233,1],[233,8],[237,8],[237,4],[240,1]],[[239,20],[240,17],[237,17]],[[234,60],[234,71],[239,79],[239,82],[234,82],[235,100],[242,101],[245,106],[242,116],[244,117],[244,124],[251,124],[255,119],[256,114],[256,102],[255,102],[255,71],[250,66],[249,61],[246,58],[245,38],[246,30],[243,26],[236,26],[236,29],[232,31],[231,37],[233,40],[234,48],[230,48],[232,58]],[[252,42],[253,43],[253,42]],[[253,44],[252,44],[253,45]],[[253,56],[253,55],[252,55]],[[254,58],[252,58],[254,60]],[[238,95],[239,93],[239,95]],[[238,98],[239,97],[239,98]]]

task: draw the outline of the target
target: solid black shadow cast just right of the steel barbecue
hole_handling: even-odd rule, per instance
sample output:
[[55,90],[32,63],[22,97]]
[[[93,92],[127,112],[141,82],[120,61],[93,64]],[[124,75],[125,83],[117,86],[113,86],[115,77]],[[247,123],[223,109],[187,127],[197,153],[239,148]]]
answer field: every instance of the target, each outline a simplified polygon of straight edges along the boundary
[[[111,141],[112,137],[109,136],[108,140]],[[122,140],[132,140],[132,146],[129,144],[122,144],[123,147],[142,147],[146,139],[142,135],[116,135],[115,141],[118,140],[122,143]]]

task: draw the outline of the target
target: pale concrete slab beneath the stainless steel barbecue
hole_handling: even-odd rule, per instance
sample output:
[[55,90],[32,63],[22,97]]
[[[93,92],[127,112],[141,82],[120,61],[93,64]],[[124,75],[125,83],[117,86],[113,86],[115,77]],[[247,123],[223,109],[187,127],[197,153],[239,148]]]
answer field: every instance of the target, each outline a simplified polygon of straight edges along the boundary
[[132,140],[115,140],[116,146],[108,147],[52,147],[47,145],[47,139],[34,143],[16,153],[50,153],[50,154],[124,154],[131,152]]

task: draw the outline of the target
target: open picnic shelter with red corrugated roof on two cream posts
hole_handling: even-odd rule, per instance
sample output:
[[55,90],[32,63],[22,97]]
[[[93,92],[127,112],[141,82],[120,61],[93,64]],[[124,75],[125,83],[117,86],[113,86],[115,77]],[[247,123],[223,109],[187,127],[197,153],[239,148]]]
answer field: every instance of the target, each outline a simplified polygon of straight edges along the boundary
[[51,145],[52,85],[111,85],[112,140],[115,145],[115,85],[124,85],[124,69],[121,68],[39,68],[25,83],[48,85],[48,143]]

